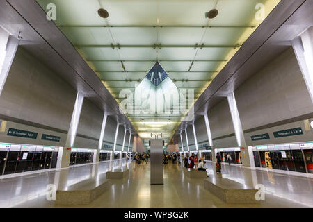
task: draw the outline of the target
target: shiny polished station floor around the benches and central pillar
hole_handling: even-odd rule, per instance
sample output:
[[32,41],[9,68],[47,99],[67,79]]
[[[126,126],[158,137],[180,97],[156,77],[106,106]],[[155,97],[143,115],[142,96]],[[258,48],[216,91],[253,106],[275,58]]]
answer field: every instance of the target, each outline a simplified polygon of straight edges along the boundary
[[[164,185],[150,185],[150,164],[130,162],[129,178],[114,180],[90,205],[55,206],[46,198],[47,185],[66,189],[109,169],[125,167],[125,160],[100,162],[60,171],[35,173],[0,180],[0,207],[313,207],[313,178],[290,176],[223,165],[223,178],[246,186],[265,186],[265,200],[255,204],[226,204],[204,189],[203,179],[185,178],[182,164],[164,166]],[[209,162],[208,175],[216,176]]]

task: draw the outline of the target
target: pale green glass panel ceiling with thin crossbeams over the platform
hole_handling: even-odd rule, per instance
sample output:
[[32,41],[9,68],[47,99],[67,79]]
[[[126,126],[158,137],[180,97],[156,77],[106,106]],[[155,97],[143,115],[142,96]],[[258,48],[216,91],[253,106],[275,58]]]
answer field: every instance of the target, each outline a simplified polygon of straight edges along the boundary
[[[280,0],[37,1],[45,10],[56,4],[56,24],[120,103],[119,90],[134,90],[156,61],[178,89],[194,89],[198,99],[262,22],[255,20],[257,3]],[[99,8],[108,10],[108,19],[97,15]],[[218,16],[205,18],[213,8]],[[136,117],[127,116],[134,123]],[[168,117],[141,115],[144,121],[158,118]]]

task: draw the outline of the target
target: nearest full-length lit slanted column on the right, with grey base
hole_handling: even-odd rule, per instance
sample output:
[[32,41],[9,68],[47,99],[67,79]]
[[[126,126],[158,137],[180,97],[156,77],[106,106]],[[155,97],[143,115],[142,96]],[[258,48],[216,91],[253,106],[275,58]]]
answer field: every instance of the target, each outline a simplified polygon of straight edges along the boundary
[[243,163],[243,166],[250,167],[250,155],[248,152],[248,147],[246,146],[246,140],[243,135],[243,129],[241,126],[241,121],[239,117],[238,108],[236,105],[236,99],[234,97],[234,92],[227,96],[228,105],[230,106],[230,114],[232,115],[232,123],[234,125],[235,130],[235,136],[237,145],[241,147],[241,160]]

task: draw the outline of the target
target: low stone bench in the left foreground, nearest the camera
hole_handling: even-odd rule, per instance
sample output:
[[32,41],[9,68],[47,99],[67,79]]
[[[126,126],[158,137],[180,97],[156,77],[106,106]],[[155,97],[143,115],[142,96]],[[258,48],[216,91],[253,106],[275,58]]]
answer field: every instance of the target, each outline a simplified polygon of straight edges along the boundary
[[104,191],[111,187],[111,181],[104,176],[96,179],[83,180],[67,187],[67,190],[56,191],[56,205],[85,205],[91,203]]

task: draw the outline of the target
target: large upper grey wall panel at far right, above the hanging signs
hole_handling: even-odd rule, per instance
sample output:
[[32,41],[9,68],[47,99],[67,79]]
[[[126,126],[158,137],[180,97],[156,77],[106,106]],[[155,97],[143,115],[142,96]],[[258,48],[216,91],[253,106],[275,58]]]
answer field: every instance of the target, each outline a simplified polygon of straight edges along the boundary
[[243,130],[313,112],[292,49],[284,51],[234,94]]

